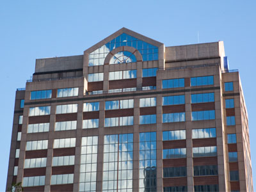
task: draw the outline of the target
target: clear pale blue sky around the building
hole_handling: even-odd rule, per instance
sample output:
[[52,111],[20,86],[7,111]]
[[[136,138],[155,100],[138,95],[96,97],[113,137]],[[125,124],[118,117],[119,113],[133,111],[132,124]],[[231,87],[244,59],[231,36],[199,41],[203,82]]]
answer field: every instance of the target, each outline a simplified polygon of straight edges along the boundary
[[[239,69],[249,114],[256,179],[256,1],[0,1],[1,173],[6,175],[16,88],[25,87],[36,58],[83,54],[125,27],[166,46],[224,41],[231,69]],[[254,182],[256,183],[256,182]]]

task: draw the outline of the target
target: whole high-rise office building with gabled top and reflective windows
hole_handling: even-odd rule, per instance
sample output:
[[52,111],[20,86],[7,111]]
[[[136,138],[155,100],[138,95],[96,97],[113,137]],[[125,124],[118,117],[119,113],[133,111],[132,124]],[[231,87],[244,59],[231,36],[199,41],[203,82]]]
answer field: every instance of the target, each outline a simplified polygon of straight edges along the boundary
[[253,191],[248,115],[223,42],[165,47],[122,28],[36,60],[15,99],[6,188]]

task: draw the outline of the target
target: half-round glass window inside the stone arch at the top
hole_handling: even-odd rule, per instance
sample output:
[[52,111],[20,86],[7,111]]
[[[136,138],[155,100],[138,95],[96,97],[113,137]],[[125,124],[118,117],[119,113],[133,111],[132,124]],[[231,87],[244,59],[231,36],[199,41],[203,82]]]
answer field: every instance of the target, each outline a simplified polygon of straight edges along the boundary
[[109,64],[132,63],[136,62],[136,57],[129,51],[120,51],[111,58]]

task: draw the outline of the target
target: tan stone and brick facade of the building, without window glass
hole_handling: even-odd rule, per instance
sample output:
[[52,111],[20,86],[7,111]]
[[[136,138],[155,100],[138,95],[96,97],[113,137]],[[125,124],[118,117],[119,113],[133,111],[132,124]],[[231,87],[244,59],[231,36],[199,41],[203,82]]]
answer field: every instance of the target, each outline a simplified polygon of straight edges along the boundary
[[[120,46],[106,55],[104,65],[89,66],[90,53],[123,33],[134,36],[143,42],[158,47],[157,60],[143,60],[141,52],[127,45]],[[136,62],[111,65],[111,58],[118,52],[129,51],[136,57]],[[138,33],[122,28],[108,36],[81,56],[49,58],[36,60],[33,80],[26,84],[26,90],[17,90],[13,118],[12,144],[6,188],[12,182],[23,182],[24,177],[45,176],[44,184],[24,186],[24,191],[83,191],[81,188],[81,150],[82,138],[97,136],[97,179],[96,191],[104,191],[104,136],[113,134],[133,135],[132,156],[132,191],[143,191],[140,185],[140,133],[156,132],[156,191],[168,191],[168,187],[186,186],[185,191],[196,191],[195,186],[218,186],[217,191],[253,191],[252,168],[250,157],[250,140],[248,115],[243,97],[239,72],[225,71],[223,42],[208,44],[182,45],[164,47]],[[158,68],[156,76],[143,77],[143,69]],[[136,78],[109,80],[109,72],[136,70]],[[88,82],[88,74],[103,73],[102,81]],[[213,83],[193,86],[191,77],[213,76]],[[163,87],[163,80],[184,79],[184,86]],[[232,90],[225,90],[225,83],[232,83]],[[152,86],[154,88],[145,89]],[[58,90],[79,88],[77,96],[58,97]],[[136,88],[125,92],[125,88]],[[109,92],[117,90],[118,92]],[[122,89],[122,91],[120,91]],[[31,100],[31,92],[51,90],[51,98]],[[90,94],[102,91],[99,94]],[[191,103],[191,95],[214,93],[213,102]],[[184,103],[163,106],[163,97],[184,95]],[[156,105],[140,107],[140,99],[156,97]],[[24,108],[20,100],[24,99]],[[107,111],[106,101],[133,99],[133,108],[113,109]],[[227,99],[234,99],[234,107],[226,108]],[[231,100],[232,101],[232,100]],[[84,103],[99,102],[99,110],[84,111]],[[76,113],[57,114],[57,106],[77,104]],[[29,116],[29,108],[51,106],[49,115]],[[31,109],[30,109],[31,110]],[[199,111],[199,112],[198,112]],[[200,111],[214,111],[213,119],[193,119]],[[185,120],[180,122],[163,122],[163,114],[184,113]],[[153,124],[141,124],[140,116],[156,115]],[[19,116],[23,116],[19,124]],[[106,127],[106,118],[133,116],[132,125]],[[198,115],[199,116],[199,115]],[[227,121],[235,120],[230,125]],[[227,118],[228,117],[228,118]],[[99,126],[83,129],[83,120],[99,119]],[[76,121],[76,129],[56,131],[56,122]],[[28,133],[29,124],[49,123],[49,131]],[[215,128],[216,136],[212,138],[193,138],[194,129]],[[186,130],[183,140],[164,140],[164,131]],[[20,141],[17,134],[21,132]],[[236,142],[228,143],[228,136],[236,134]],[[76,138],[74,147],[54,148],[54,140]],[[28,141],[47,140],[47,148],[27,150]],[[215,156],[195,157],[193,148],[216,147]],[[164,149],[186,148],[186,157],[164,158]],[[19,149],[19,156],[15,153]],[[206,149],[205,149],[206,150]],[[228,154],[234,152],[234,154]],[[230,156],[237,160],[230,161]],[[206,152],[205,152],[206,153]],[[53,157],[75,156],[74,164],[52,166]],[[24,168],[25,159],[46,158],[46,165]],[[236,159],[236,158],[235,158]],[[216,165],[218,173],[195,175],[195,166]],[[186,167],[186,175],[164,177],[164,168]],[[15,168],[16,167],[16,168]],[[14,169],[17,174],[13,175]],[[236,178],[238,171],[239,179]],[[230,175],[235,174],[235,179]],[[72,183],[52,184],[51,175],[74,174]],[[230,179],[232,177],[232,179]],[[203,188],[203,187],[202,187]],[[86,188],[85,188],[86,189]],[[118,189],[115,189],[117,191]],[[152,189],[152,191],[154,191]],[[88,190],[90,191],[90,190]],[[106,191],[106,190],[105,190]],[[119,191],[119,190],[118,190]],[[126,191],[123,189],[123,191]],[[127,190],[129,191],[129,190]],[[147,191],[147,190],[145,190]]]

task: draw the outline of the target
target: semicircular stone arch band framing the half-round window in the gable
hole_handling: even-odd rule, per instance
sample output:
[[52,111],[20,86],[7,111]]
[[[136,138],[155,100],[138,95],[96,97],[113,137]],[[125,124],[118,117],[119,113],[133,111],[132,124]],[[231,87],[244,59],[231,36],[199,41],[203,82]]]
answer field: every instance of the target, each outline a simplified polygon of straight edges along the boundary
[[132,54],[134,54],[134,56],[136,57],[136,62],[140,62],[142,61],[142,56],[140,54],[140,51],[138,51],[137,49],[135,49],[134,47],[129,47],[129,46],[122,46],[122,47],[117,47],[116,49],[113,49],[111,52],[109,52],[109,54],[106,56],[105,60],[104,60],[104,65],[109,65],[109,61],[111,60],[111,58],[120,51],[129,51]]

